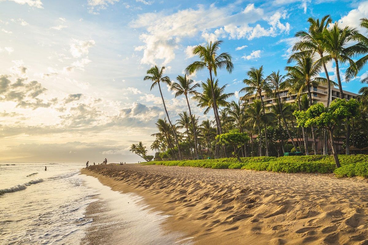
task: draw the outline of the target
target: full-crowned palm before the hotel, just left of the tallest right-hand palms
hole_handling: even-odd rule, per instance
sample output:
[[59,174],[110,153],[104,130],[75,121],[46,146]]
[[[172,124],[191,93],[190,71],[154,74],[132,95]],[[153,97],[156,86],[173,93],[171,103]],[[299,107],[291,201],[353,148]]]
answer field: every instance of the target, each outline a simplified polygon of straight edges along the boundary
[[[320,83],[327,83],[325,78],[317,77],[322,68],[322,63],[315,62],[315,55],[312,53],[305,53],[303,56],[296,58],[295,66],[286,66],[285,69],[289,73],[293,73],[293,78],[297,79],[299,84],[299,91],[308,91],[309,104],[313,104],[312,100],[312,86],[318,86]],[[314,145],[314,154],[317,154],[317,143],[314,127],[312,127],[312,137]]]

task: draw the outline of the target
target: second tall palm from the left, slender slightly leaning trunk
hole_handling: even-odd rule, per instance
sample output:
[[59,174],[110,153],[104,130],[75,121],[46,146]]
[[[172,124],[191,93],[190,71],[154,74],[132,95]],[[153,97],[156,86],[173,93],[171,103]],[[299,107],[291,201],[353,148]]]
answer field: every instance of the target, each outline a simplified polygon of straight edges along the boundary
[[176,91],[175,93],[175,98],[183,95],[185,96],[185,99],[187,100],[187,105],[188,105],[188,109],[189,109],[189,115],[191,118],[191,123],[193,126],[193,133],[194,133],[194,151],[195,151],[195,158],[198,158],[198,144],[197,144],[197,134],[195,131],[195,127],[194,127],[194,118],[192,115],[192,111],[190,109],[190,105],[189,105],[189,100],[188,100],[188,94],[189,95],[195,95],[195,88],[199,87],[199,83],[195,83],[192,79],[188,79],[187,75],[185,76],[177,76],[176,80],[178,82],[174,82],[171,84],[171,90]]

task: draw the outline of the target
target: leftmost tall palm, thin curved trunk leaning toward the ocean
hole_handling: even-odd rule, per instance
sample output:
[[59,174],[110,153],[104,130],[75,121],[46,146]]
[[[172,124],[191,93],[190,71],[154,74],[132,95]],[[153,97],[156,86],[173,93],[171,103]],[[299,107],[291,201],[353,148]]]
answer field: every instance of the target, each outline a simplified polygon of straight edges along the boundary
[[170,117],[169,117],[169,113],[167,113],[167,109],[166,109],[166,105],[165,105],[165,101],[163,99],[163,95],[162,95],[162,91],[161,91],[161,86],[160,86],[160,82],[162,83],[166,83],[167,85],[171,85],[171,81],[170,78],[168,76],[163,76],[163,71],[164,71],[165,67],[162,66],[161,69],[159,69],[156,65],[154,67],[152,67],[151,69],[149,69],[147,71],[147,74],[150,76],[145,76],[144,77],[144,81],[146,80],[150,80],[152,81],[152,85],[151,85],[151,90],[153,89],[153,87],[155,87],[156,85],[159,86],[159,90],[160,90],[160,94],[161,94],[161,98],[162,98],[162,103],[163,103],[163,107],[165,109],[166,112],[166,116],[167,116],[167,120],[169,120],[171,129],[173,130],[174,133],[174,138],[175,138],[175,142],[176,142],[176,146],[178,147],[178,152],[179,152],[179,158],[181,159],[181,153],[180,153],[180,148],[179,148],[179,142],[178,142],[178,138],[176,136],[176,132],[174,130],[173,124],[170,121]]

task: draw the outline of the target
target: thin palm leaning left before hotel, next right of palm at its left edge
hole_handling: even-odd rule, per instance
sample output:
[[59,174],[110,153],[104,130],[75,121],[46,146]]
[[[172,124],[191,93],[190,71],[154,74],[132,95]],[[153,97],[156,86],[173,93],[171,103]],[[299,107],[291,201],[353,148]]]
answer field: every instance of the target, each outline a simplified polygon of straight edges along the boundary
[[271,89],[273,91],[275,91],[275,94],[277,95],[277,101],[278,101],[278,106],[279,106],[279,112],[280,112],[280,116],[284,122],[284,126],[286,128],[287,134],[289,135],[289,138],[291,139],[291,143],[293,144],[294,148],[297,149],[297,145],[294,142],[294,138],[291,136],[290,130],[289,130],[289,126],[286,123],[286,118],[285,115],[283,113],[283,109],[282,109],[282,103],[281,103],[281,97],[280,97],[280,87],[284,88],[284,85],[286,85],[286,83],[284,83],[286,76],[282,76],[280,75],[280,71],[276,72],[272,72],[267,78],[266,80],[269,81],[269,85],[271,87]]

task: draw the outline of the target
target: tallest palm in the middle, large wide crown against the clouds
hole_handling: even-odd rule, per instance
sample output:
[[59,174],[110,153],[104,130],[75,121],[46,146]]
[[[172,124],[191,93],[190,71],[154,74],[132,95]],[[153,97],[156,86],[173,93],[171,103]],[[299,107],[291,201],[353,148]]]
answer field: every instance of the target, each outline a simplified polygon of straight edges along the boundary
[[217,125],[219,125],[220,134],[222,133],[222,128],[220,125],[219,112],[217,108],[216,94],[215,94],[215,86],[212,78],[212,72],[215,76],[217,76],[217,69],[226,69],[229,73],[231,73],[234,69],[233,62],[231,62],[231,55],[229,53],[221,53],[217,55],[220,50],[220,45],[222,44],[222,40],[217,40],[215,42],[207,42],[206,47],[198,45],[195,46],[192,50],[194,55],[198,55],[199,61],[194,61],[192,64],[188,65],[185,71],[188,74],[192,74],[197,71],[201,71],[203,69],[208,69],[210,85],[212,91],[212,100],[213,100],[213,111],[215,112],[215,119]]

